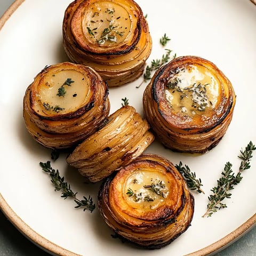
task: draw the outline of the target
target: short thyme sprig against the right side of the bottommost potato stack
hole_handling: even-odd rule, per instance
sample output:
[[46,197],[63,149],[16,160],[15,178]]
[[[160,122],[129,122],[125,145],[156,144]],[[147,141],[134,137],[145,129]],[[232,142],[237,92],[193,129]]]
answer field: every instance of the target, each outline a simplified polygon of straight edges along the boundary
[[177,164],[175,167],[186,180],[189,189],[204,194],[204,191],[201,188],[203,186],[201,179],[196,179],[196,173],[191,172],[188,165],[185,164],[185,166],[183,166],[182,162],[180,162],[179,165]]

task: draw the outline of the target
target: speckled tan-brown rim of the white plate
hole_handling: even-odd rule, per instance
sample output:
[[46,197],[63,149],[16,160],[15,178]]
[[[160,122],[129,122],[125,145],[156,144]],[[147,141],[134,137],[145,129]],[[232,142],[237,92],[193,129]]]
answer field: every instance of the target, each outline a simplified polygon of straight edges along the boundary
[[[256,0],[250,0],[252,3],[256,5]],[[0,19],[0,30],[4,26],[5,22],[11,17],[12,13],[17,10],[17,8],[23,3],[25,0],[16,0],[8,10],[2,15]],[[66,249],[63,249],[57,244],[52,243],[45,237],[36,233],[35,230],[30,228],[27,223],[25,223],[7,204],[4,197],[0,193],[0,209],[6,215],[6,217],[10,220],[10,222],[23,234],[25,235],[31,242],[36,244],[41,249],[51,253],[52,255],[61,255],[61,256],[81,256],[79,254],[70,252]],[[211,255],[213,253],[217,253],[218,251],[224,249],[231,243],[235,242],[242,235],[247,233],[251,228],[256,226],[256,213],[246,222],[244,222],[237,229],[229,233],[227,236],[219,239],[217,242],[204,247],[201,250],[196,252],[187,254],[185,256],[206,256]]]

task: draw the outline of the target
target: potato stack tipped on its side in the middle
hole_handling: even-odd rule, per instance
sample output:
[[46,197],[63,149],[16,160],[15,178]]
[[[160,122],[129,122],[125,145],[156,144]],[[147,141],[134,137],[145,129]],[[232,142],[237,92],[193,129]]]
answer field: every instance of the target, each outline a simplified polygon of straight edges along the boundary
[[132,106],[123,106],[75,148],[67,163],[88,181],[99,182],[141,155],[153,140],[148,122]]

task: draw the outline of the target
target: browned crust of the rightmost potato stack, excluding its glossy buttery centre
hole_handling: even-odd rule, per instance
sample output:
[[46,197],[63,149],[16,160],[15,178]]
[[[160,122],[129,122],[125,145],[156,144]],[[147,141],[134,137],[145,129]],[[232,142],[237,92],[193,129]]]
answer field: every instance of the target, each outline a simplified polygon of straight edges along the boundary
[[[172,110],[166,96],[166,84],[173,70],[197,63],[218,77],[218,104],[207,113],[192,118]],[[212,62],[195,56],[180,57],[160,68],[143,94],[145,117],[164,146],[175,151],[204,153],[215,147],[231,122],[236,96],[229,79]]]

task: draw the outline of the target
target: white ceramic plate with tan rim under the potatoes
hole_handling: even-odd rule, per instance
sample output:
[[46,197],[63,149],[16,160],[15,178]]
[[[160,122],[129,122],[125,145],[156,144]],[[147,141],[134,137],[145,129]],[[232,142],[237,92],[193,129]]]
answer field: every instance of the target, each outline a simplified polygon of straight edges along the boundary
[[[169,246],[157,251],[139,250],[118,239],[93,213],[74,209],[74,202],[60,197],[39,162],[50,159],[51,151],[38,145],[27,133],[22,118],[26,87],[46,65],[66,61],[62,47],[63,13],[70,0],[16,1],[1,20],[1,154],[0,206],[23,234],[52,254],[59,255],[207,255],[233,242],[256,222],[256,156],[251,170],[235,187],[227,209],[202,218],[207,196],[227,161],[238,170],[239,150],[256,143],[255,70],[256,6],[249,0],[138,0],[147,14],[153,37],[152,59],[164,54],[159,38],[171,38],[166,48],[180,55],[199,55],[214,62],[233,83],[237,94],[233,121],[219,145],[199,156],[172,153],[154,142],[147,152],[161,154],[174,164],[182,161],[204,183],[205,195],[195,194],[192,226]],[[17,9],[17,10],[16,10]],[[15,11],[14,11],[15,10]],[[14,12],[13,12],[14,11]],[[11,17],[9,15],[13,12]],[[5,22],[6,21],[6,22]],[[5,22],[5,24],[4,24]],[[142,113],[138,81],[110,90],[111,112],[121,107],[122,98]],[[98,185],[85,185],[83,178],[65,162],[65,155],[52,167],[59,169],[78,196],[97,199]]]

